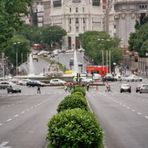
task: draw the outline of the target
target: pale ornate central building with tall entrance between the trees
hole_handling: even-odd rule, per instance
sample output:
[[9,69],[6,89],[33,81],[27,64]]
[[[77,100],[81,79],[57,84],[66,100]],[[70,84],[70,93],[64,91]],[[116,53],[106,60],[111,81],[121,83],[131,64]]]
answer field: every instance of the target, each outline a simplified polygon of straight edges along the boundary
[[50,23],[67,31],[67,49],[80,48],[80,33],[103,31],[103,18],[100,0],[51,0]]

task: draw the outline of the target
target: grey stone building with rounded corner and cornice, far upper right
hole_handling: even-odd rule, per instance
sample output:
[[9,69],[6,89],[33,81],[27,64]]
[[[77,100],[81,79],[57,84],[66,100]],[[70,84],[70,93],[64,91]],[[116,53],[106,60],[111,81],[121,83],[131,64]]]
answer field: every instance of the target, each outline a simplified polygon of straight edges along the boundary
[[116,36],[121,39],[121,46],[127,48],[136,21],[140,22],[148,12],[148,0],[115,0],[114,9]]

